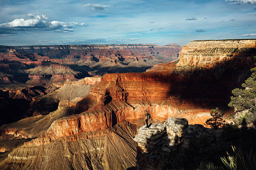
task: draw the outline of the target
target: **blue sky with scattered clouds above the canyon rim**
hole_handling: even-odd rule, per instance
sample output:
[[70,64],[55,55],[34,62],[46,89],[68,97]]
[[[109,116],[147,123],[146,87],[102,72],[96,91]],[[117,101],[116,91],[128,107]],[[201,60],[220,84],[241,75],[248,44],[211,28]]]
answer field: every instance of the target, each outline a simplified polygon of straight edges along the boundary
[[0,0],[0,45],[256,38],[256,0]]

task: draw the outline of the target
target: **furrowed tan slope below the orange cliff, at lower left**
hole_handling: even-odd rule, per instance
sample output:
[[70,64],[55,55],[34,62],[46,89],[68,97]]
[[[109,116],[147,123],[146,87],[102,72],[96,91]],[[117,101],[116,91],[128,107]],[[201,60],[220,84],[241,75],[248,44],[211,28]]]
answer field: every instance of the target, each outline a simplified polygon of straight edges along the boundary
[[134,130],[136,131],[135,127],[126,122],[109,130],[73,136],[73,140],[59,138],[45,145],[23,145],[8,154],[0,163],[0,168],[127,169],[136,165],[136,143],[132,140],[132,136],[135,135]]

